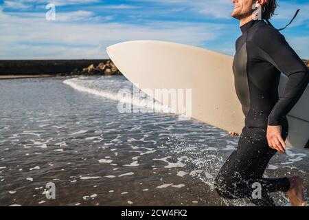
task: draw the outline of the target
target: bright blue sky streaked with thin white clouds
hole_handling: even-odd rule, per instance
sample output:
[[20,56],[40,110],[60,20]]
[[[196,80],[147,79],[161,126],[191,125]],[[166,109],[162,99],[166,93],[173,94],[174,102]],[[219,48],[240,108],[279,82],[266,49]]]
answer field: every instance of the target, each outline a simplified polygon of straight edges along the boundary
[[[47,21],[47,3],[56,20]],[[309,1],[279,0],[272,19],[301,58],[309,58]],[[108,45],[172,41],[234,54],[240,36],[230,0],[0,0],[0,59],[108,58]]]

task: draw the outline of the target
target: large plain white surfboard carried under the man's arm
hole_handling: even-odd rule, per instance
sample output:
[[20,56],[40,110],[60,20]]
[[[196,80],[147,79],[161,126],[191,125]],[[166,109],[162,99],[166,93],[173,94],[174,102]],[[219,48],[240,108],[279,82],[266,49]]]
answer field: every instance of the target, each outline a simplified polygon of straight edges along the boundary
[[[225,131],[242,131],[244,114],[234,87],[233,56],[165,41],[127,41],[107,47],[106,52],[119,71],[146,94],[154,96],[156,89],[191,89],[189,116]],[[284,80],[283,76],[280,88]],[[309,147],[308,99],[307,87],[288,115],[288,146]],[[170,100],[159,101],[174,107]]]

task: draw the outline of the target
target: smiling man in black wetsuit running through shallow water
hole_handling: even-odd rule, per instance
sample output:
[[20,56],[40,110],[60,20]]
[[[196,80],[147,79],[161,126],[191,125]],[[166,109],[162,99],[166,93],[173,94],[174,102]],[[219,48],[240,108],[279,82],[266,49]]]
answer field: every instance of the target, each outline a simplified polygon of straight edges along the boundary
[[[305,206],[301,177],[264,178],[266,166],[285,151],[288,135],[286,114],[309,83],[308,69],[284,36],[262,19],[275,12],[275,0],[233,0],[232,17],[240,20],[242,36],[236,41],[233,62],[236,94],[242,104],[245,126],[238,148],[231,153],[216,177],[216,190],[226,199],[248,198],[258,206],[275,206],[269,192],[286,192],[292,206]],[[262,18],[253,19],[253,4]],[[280,74],[288,76],[278,96]],[[238,135],[231,132],[231,135]],[[260,194],[255,193],[259,190]]]

